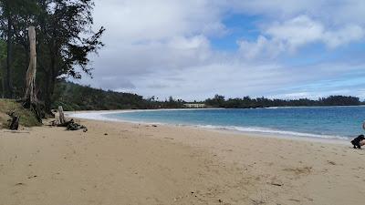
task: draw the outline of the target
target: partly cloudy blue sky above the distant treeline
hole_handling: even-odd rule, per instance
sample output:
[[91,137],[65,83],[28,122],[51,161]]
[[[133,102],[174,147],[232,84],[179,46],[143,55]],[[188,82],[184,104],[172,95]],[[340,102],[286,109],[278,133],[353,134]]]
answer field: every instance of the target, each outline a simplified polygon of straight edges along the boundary
[[93,77],[143,97],[365,98],[364,0],[95,0]]

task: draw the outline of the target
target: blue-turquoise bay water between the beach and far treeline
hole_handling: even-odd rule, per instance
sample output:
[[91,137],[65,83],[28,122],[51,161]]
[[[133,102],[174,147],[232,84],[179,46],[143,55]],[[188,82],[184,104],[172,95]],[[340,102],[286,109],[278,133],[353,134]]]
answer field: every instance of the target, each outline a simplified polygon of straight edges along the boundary
[[152,110],[103,116],[312,138],[353,138],[364,132],[365,107]]

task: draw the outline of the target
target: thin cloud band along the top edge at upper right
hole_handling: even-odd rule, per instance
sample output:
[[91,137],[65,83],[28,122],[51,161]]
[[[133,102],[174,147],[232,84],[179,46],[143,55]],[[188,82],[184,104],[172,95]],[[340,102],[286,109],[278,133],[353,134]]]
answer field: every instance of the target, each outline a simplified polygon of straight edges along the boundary
[[310,15],[331,26],[349,22],[361,26],[365,24],[363,0],[231,0],[225,4],[238,14],[263,15],[280,21],[297,15]]

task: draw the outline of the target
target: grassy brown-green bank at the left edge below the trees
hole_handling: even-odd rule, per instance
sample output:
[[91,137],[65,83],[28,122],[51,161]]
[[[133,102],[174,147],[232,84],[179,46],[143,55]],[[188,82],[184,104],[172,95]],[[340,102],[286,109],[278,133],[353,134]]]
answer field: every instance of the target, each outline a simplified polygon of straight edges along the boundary
[[12,99],[0,98],[0,128],[5,128],[8,125],[9,119],[7,113],[14,112],[16,116],[20,116],[19,124],[25,127],[41,126],[41,123],[36,119],[36,115],[28,109],[22,107]]

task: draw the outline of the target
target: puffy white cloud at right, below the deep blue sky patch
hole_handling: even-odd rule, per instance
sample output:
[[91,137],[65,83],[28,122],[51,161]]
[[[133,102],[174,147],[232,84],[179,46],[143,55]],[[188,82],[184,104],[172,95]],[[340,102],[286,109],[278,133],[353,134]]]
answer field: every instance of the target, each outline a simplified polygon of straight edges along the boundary
[[257,56],[271,58],[285,51],[296,52],[301,46],[314,43],[336,48],[360,41],[365,37],[365,29],[357,25],[346,25],[338,29],[327,28],[307,15],[299,15],[285,22],[267,26],[263,34],[264,36],[258,36],[256,42],[238,42],[243,56],[250,59]]

